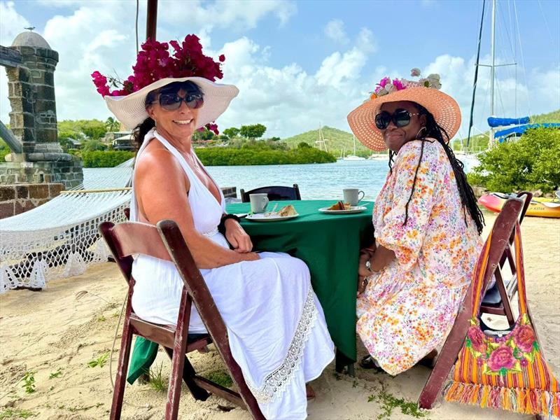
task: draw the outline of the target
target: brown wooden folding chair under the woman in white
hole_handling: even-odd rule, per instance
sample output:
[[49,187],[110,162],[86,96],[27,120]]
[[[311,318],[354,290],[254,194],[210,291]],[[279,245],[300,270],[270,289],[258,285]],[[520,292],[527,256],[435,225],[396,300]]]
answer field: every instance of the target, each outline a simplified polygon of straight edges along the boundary
[[[165,407],[166,420],[177,418],[181,379],[185,381],[190,393],[197,400],[206,400],[209,396],[207,391],[210,391],[248,409],[255,419],[264,419],[255,397],[244,380],[241,368],[232,356],[228,331],[223,319],[176,223],[169,220],[160,221],[155,227],[145,223],[130,222],[113,225],[113,223],[105,222],[99,226],[99,230],[129,285],[123,338],[121,339],[113,404],[111,405],[111,420],[120,419],[130,346],[134,334],[164,346],[169,356],[172,357],[172,373],[169,377],[169,391]],[[184,282],[176,327],[150,323],[134,314],[131,303],[135,283],[132,277],[132,255],[134,254],[150,255],[174,262]],[[191,336],[193,338],[191,340],[188,337],[188,325],[193,303],[206,325],[209,335]],[[214,342],[222,356],[239,393],[198,375],[186,357],[186,353],[202,349],[211,342]]]

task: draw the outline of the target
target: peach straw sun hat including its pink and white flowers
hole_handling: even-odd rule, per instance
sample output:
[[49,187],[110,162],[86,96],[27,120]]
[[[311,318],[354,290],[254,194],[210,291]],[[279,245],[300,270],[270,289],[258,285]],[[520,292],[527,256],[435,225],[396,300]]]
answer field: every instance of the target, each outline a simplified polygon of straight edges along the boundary
[[[412,69],[412,76],[420,76],[419,69]],[[384,151],[387,146],[375,125],[375,116],[386,102],[411,101],[426,108],[451,139],[461,125],[461,110],[455,99],[440,92],[440,87],[437,74],[418,81],[383,78],[370,98],[348,114],[350,128],[361,144],[372,151]]]

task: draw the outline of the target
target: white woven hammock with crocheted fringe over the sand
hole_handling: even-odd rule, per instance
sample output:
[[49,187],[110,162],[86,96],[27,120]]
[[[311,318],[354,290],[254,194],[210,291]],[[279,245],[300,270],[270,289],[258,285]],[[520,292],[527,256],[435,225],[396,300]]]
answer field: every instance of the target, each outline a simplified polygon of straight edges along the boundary
[[[0,293],[77,276],[107,260],[99,223],[125,221],[130,205],[132,167],[84,169],[82,188],[0,220]],[[97,191],[92,192],[92,189]]]

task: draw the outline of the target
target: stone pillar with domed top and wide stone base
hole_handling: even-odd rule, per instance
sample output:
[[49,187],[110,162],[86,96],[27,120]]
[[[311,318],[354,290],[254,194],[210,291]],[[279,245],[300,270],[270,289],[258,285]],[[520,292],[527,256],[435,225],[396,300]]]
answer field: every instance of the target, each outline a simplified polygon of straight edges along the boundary
[[62,183],[66,189],[80,185],[82,162],[63,153],[57,139],[54,76],[58,52],[31,31],[16,36],[10,48],[3,50],[10,50],[19,64],[6,64],[13,133],[7,133],[12,137],[7,143],[13,153],[0,163],[0,183]]

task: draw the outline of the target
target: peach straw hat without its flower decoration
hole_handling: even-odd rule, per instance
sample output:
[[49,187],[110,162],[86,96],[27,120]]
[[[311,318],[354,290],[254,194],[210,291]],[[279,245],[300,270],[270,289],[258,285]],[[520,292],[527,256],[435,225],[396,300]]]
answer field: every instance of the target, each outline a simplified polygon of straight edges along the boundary
[[375,125],[375,116],[386,102],[411,101],[426,108],[452,139],[461,126],[461,109],[455,99],[432,87],[409,82],[407,87],[383,96],[369,99],[348,114],[348,124],[356,138],[372,151],[387,148],[381,130]]

